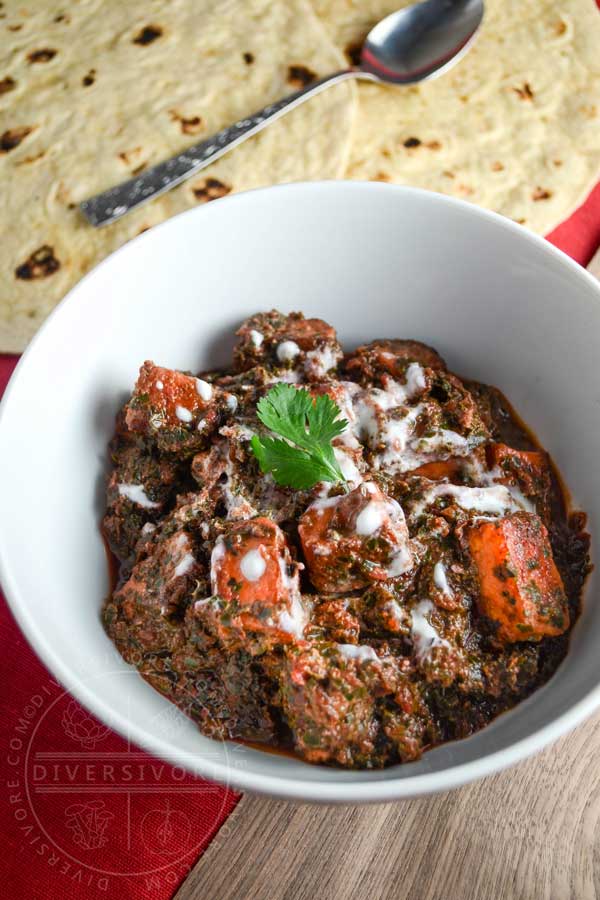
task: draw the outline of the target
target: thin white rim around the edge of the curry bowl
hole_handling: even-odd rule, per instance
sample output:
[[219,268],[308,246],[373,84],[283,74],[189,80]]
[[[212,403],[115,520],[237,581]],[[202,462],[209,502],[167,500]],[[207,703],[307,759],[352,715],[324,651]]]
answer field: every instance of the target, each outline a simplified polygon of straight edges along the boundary
[[[263,198],[274,193],[283,193],[293,196],[293,194],[302,192],[308,194],[314,193],[317,195],[321,194],[323,191],[331,192],[334,195],[337,193],[350,192],[364,194],[365,196],[370,193],[386,192],[388,194],[396,194],[399,200],[405,196],[413,196],[416,197],[419,202],[429,203],[433,206],[446,206],[467,216],[487,220],[494,223],[495,227],[511,232],[518,240],[529,243],[533,247],[537,247],[537,249],[543,254],[546,254],[548,258],[558,261],[559,264],[569,272],[571,277],[579,280],[583,284],[587,284],[588,287],[591,287],[592,293],[595,293],[598,301],[600,301],[600,283],[597,279],[575,262],[575,260],[567,256],[562,250],[559,250],[551,244],[546,238],[526,230],[521,225],[518,225],[511,219],[501,216],[498,213],[483,209],[455,197],[438,194],[433,191],[426,191],[422,188],[391,185],[380,182],[347,180],[294,182],[290,184],[256,188],[239,194],[231,194],[221,198],[216,208],[223,209],[226,206],[235,208],[239,205],[247,203],[251,204],[254,202],[256,196]],[[335,197],[333,197],[332,200],[335,202]],[[157,232],[162,229],[173,227],[173,223],[176,220],[185,217],[191,219],[196,216],[211,215],[210,210],[212,208],[212,204],[194,207],[155,225],[149,232],[144,232],[136,236],[103,259],[68,291],[34,335],[14,369],[2,401],[0,402],[0,435],[2,433],[2,423],[8,401],[12,396],[12,393],[18,388],[21,374],[28,365],[28,360],[36,354],[37,347],[40,343],[51,338],[52,329],[54,328],[56,321],[64,314],[65,310],[70,308],[73,303],[79,302],[79,294],[81,291],[85,291],[88,279],[94,278],[98,269],[106,265],[111,265],[111,260],[115,256],[127,253],[131,244],[144,240],[155,240]],[[9,527],[9,524],[3,516],[2,507],[0,506],[0,586],[4,591],[8,606],[23,635],[49,672],[55,676],[60,684],[84,707],[101,721],[107,723],[109,727],[121,737],[133,741],[148,753],[166,759],[173,763],[173,765],[182,766],[194,775],[218,781],[234,789],[267,794],[298,802],[309,801],[314,803],[349,804],[381,803],[438,793],[460,787],[471,781],[483,778],[486,775],[500,772],[515,765],[521,760],[527,759],[534,753],[547,747],[562,735],[571,731],[600,708],[599,682],[598,685],[591,688],[584,697],[577,701],[577,703],[560,714],[552,722],[549,722],[528,737],[516,741],[505,749],[489,753],[470,762],[443,769],[440,772],[390,777],[388,779],[373,780],[370,783],[368,782],[368,771],[360,773],[361,776],[365,778],[365,780],[360,783],[353,783],[351,781],[322,782],[318,778],[318,772],[321,771],[323,767],[306,764],[308,771],[314,768],[315,778],[312,781],[299,781],[295,777],[289,775],[260,774],[238,770],[231,767],[227,761],[207,762],[203,759],[201,754],[191,758],[189,753],[176,750],[167,740],[143,731],[137,726],[132,725],[120,715],[115,716],[114,711],[108,703],[102,699],[102,696],[90,689],[74,672],[72,672],[68,663],[55,653],[51,643],[46,640],[45,635],[36,627],[34,618],[28,614],[26,604],[22,602],[17,579],[11,571],[10,560],[7,558],[4,547],[3,534],[5,533],[7,526]]]

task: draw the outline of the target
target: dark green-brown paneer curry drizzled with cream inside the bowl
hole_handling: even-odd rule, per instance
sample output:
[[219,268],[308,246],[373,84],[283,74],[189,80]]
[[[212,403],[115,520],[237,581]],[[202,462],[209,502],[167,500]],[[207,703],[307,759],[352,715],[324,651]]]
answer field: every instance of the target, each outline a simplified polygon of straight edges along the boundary
[[[503,395],[416,341],[344,354],[300,313],[237,336],[231,371],[144,363],[118,415],[124,659],[206,735],[349,768],[418,759],[546,682],[589,537]],[[270,398],[296,416],[279,440]],[[318,453],[337,476],[290,486]]]

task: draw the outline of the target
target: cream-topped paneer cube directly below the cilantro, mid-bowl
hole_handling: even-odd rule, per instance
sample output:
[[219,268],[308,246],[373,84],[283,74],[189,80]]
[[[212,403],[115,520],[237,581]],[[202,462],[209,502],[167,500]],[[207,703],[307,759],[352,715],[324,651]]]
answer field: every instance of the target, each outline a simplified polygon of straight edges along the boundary
[[300,517],[298,533],[310,579],[325,593],[387,581],[413,564],[402,508],[373,482],[315,501]]

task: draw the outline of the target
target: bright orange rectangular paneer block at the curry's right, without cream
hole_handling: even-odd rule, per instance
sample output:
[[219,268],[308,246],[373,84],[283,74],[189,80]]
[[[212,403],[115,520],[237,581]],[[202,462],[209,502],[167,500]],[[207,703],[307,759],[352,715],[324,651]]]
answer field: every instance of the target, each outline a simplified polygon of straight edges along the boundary
[[499,640],[539,641],[567,630],[565,589],[538,516],[519,512],[478,522],[468,543],[479,577],[479,611],[497,623]]

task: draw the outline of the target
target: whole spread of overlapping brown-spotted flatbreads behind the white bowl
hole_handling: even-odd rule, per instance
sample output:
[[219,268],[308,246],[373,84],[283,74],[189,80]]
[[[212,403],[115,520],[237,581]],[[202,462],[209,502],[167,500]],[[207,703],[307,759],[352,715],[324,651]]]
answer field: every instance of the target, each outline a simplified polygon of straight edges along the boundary
[[594,0],[487,0],[473,49],[405,88],[346,82],[94,230],[78,203],[347,66],[408,0],[0,4],[0,351],[112,250],[192,206],[354,178],[453,194],[547,232],[600,171]]

